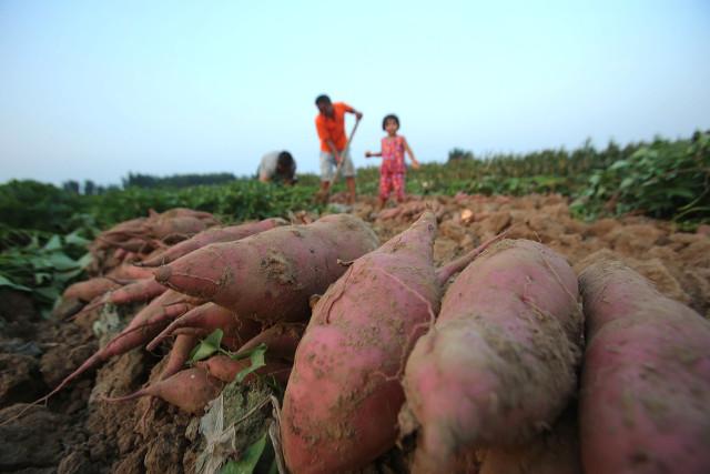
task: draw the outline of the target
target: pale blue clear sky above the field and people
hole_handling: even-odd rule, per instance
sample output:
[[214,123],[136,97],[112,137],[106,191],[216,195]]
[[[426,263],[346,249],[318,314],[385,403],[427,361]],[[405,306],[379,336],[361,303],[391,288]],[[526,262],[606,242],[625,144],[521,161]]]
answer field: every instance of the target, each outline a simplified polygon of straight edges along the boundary
[[[0,183],[317,172],[314,99],[420,161],[710,129],[710,2],[0,0]],[[348,130],[353,121],[348,121]]]

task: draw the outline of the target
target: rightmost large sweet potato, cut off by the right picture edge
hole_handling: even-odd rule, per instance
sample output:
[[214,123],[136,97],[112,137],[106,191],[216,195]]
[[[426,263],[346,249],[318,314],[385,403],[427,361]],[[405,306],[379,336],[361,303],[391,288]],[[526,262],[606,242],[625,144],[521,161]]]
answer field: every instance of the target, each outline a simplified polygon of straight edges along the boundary
[[580,284],[585,472],[710,472],[710,322],[617,261]]

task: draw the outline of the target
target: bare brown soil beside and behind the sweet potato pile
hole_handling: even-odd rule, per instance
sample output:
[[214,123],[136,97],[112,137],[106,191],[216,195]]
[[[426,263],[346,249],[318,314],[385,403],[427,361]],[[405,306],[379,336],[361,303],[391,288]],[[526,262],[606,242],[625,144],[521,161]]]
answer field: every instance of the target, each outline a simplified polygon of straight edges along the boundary
[[[571,218],[568,204],[560,195],[457,195],[412,198],[377,212],[375,199],[361,198],[351,212],[368,221],[384,242],[432,209],[439,222],[437,264],[504,230],[510,238],[557,250],[577,272],[600,253],[612,253],[667,296],[710,316],[708,232],[683,233],[670,222],[641,216],[586,223]],[[304,222],[314,218],[296,215]],[[70,320],[79,307],[78,301],[65,301],[54,317],[43,320],[26,295],[0,291],[0,472],[194,472],[199,441],[187,430],[191,415],[159,400],[102,401],[155,377],[163,363],[160,352],[133,350],[81,376],[45,404],[29,405],[99,347],[93,331],[99,312]],[[406,472],[406,455],[393,450],[365,472]]]

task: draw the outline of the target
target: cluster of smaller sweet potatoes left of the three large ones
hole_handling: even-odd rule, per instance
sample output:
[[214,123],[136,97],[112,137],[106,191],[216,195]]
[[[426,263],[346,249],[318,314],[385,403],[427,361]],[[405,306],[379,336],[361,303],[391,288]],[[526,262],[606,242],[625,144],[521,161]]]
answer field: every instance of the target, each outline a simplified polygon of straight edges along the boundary
[[[151,224],[150,219],[123,223],[104,232],[98,242],[116,250],[106,248],[105,242],[116,243],[120,235],[136,240],[146,230],[158,239],[159,228],[163,238],[176,239],[178,233],[165,231],[171,223],[173,229],[187,229],[187,221],[214,221],[202,213],[201,219],[187,219],[185,213],[169,211]],[[267,219],[205,229],[190,239],[186,232],[180,235],[180,243],[170,245],[162,239],[163,245],[155,251],[134,253],[131,264],[122,263],[110,275],[67,289],[65,297],[89,302],[77,317],[106,303],[149,303],[47,397],[110,357],[140,346],[158,351],[160,345],[170,347],[161,380],[134,394],[109,400],[153,395],[201,413],[223,383],[248,367],[250,360],[239,355],[260,344],[268,352],[265,366],[256,374],[271,375],[285,385],[310,315],[310,297],[323,293],[345,272],[343,262],[375,250],[379,243],[367,224],[347,214],[326,215],[307,225]],[[118,270],[124,272],[123,279],[115,276]],[[222,354],[185,367],[197,342],[215,330],[221,331],[225,352],[235,357]]]

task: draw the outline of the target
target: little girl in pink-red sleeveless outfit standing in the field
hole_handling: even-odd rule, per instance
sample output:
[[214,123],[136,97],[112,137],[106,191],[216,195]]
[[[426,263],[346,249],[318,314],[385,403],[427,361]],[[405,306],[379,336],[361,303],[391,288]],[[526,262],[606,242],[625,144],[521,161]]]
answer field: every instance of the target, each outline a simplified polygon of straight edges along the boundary
[[405,151],[409,154],[412,168],[415,170],[419,168],[419,162],[414,158],[407,140],[397,134],[399,118],[392,113],[385,115],[382,121],[382,129],[387,132],[387,137],[382,139],[382,150],[377,153],[365,152],[366,158],[382,157],[382,167],[379,167],[379,209],[385,206],[392,191],[395,192],[397,202],[404,201]]

